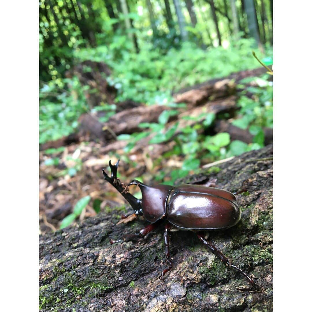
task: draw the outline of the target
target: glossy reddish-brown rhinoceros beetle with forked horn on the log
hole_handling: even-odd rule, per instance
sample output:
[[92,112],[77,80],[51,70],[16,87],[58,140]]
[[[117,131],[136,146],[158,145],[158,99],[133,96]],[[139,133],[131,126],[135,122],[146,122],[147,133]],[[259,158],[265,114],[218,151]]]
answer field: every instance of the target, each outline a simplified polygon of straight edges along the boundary
[[[164,241],[165,255],[168,268],[162,271],[159,279],[164,280],[164,275],[173,267],[169,250],[169,231],[189,230],[196,232],[197,237],[216,255],[226,266],[240,271],[253,288],[255,282],[240,268],[235,266],[221,251],[205,239],[202,231],[227,229],[234,226],[241,218],[241,209],[234,194],[218,188],[205,187],[193,184],[180,184],[170,186],[158,184],[154,187],[145,185],[138,180],[133,180],[129,185],[137,185],[142,192],[142,200],[129,193],[129,185],[122,183],[117,178],[119,160],[115,165],[109,161],[111,177],[103,169],[104,179],[108,181],[129,202],[134,209],[134,215],[144,216],[150,222],[138,233],[125,235],[122,240],[129,241],[144,237],[149,232],[165,223]],[[133,214],[132,214],[133,215]],[[125,218],[126,216],[123,216]]]

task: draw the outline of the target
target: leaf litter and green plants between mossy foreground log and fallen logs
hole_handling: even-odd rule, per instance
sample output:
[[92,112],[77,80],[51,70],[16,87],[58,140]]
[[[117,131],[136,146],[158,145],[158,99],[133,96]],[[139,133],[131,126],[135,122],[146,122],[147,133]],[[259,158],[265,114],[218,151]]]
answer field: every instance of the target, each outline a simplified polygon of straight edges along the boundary
[[[110,159],[112,163],[121,159],[118,176],[124,183],[136,178],[147,184],[153,181],[173,184],[188,174],[199,173],[205,164],[263,147],[263,129],[272,127],[272,83],[268,78],[264,75],[240,82],[238,87],[242,91],[237,100],[236,118],[228,119],[254,135],[250,144],[233,141],[228,133],[211,132],[217,119],[228,118],[224,115],[206,114],[203,122],[194,120],[192,126],[180,129],[178,135],[173,135],[170,129],[161,133],[177,109],[169,105],[168,110],[159,116],[158,123],[141,124],[142,132],[119,136],[119,139],[127,139],[128,144],[114,153],[103,153],[104,146],[96,142],[40,152],[41,232],[66,227],[72,222],[95,216],[101,210],[110,213],[110,208],[117,206],[121,207],[120,214],[126,211],[124,198],[103,179],[101,171],[106,168],[109,172]],[[175,129],[179,127],[178,122]],[[153,133],[156,135],[149,144],[170,141],[173,142],[172,148],[156,159],[133,150],[136,142]],[[207,172],[215,172],[218,168],[217,164],[212,165]],[[133,194],[137,192],[139,196],[135,186],[131,186],[130,191]]]

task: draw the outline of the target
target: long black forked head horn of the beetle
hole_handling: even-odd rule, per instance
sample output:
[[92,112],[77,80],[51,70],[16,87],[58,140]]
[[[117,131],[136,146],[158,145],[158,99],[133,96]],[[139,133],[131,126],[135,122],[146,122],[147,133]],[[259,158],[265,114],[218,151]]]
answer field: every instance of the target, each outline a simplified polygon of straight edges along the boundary
[[130,194],[128,186],[122,183],[119,178],[117,178],[119,160],[115,165],[112,165],[111,161],[109,161],[108,164],[110,165],[111,176],[109,177],[103,169],[104,179],[109,182],[129,202],[136,215],[142,216],[143,212],[141,200]]

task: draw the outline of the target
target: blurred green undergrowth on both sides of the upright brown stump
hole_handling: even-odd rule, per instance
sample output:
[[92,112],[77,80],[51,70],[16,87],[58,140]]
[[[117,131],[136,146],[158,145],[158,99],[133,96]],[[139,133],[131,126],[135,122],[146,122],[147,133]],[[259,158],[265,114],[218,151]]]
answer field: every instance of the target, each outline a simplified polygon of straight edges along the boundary
[[[202,50],[192,42],[170,49],[165,55],[161,50],[146,44],[139,54],[130,49],[119,51],[119,46],[98,46],[78,49],[76,62],[105,62],[112,70],[105,77],[107,83],[117,89],[115,102],[133,100],[150,104],[172,102],[171,92],[192,86],[212,78],[225,77],[233,72],[259,67],[252,56],[254,41],[241,39],[227,49],[223,47]],[[267,47],[266,55],[271,55]],[[256,50],[257,55],[262,55]],[[262,55],[263,56],[263,55]],[[270,61],[269,61],[270,63]],[[269,64],[268,63],[268,64]],[[91,69],[86,66],[84,70]],[[104,73],[102,75],[105,76]],[[77,77],[56,78],[41,81],[39,106],[39,142],[45,143],[66,136],[75,131],[78,118],[93,108],[87,105],[85,92],[94,92],[89,86],[81,86]],[[107,109],[101,103],[98,109]],[[110,110],[110,115],[114,110]]]

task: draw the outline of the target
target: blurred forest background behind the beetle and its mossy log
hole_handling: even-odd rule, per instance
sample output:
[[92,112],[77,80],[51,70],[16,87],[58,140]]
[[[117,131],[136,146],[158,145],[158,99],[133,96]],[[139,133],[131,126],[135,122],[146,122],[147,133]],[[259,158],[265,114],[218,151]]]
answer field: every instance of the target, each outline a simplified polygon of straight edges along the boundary
[[109,159],[124,182],[173,184],[271,143],[272,13],[272,0],[40,1],[41,233],[126,212]]

